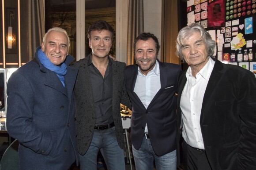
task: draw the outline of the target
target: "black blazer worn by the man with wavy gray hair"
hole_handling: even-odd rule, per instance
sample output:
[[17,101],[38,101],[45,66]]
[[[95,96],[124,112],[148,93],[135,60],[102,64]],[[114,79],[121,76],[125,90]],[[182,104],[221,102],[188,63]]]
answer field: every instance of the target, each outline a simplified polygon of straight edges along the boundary
[[[177,130],[181,126],[185,72],[180,80]],[[256,169],[255,97],[256,78],[252,72],[215,61],[200,116],[204,149],[213,170]]]

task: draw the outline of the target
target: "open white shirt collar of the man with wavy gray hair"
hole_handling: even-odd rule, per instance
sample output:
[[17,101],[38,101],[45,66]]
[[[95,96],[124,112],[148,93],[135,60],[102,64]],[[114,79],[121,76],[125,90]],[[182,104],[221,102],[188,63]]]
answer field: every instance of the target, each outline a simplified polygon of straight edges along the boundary
[[[209,80],[211,76],[212,69],[214,67],[215,61],[211,57],[208,57],[209,60],[207,61],[206,65],[203,66],[203,68],[197,73],[200,74],[205,80]],[[192,70],[191,67],[188,67],[188,70],[186,72],[186,77],[188,80],[188,77],[192,76]]]

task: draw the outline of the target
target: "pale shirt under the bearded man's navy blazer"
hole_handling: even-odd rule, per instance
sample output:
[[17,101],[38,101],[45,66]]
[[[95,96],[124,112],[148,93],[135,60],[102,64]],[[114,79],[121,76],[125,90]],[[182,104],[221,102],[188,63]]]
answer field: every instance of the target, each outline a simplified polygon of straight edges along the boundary
[[[138,66],[138,76],[136,79],[134,92],[137,94],[146,109],[160,88],[161,83],[158,61],[156,61],[154,68],[147,73],[147,76],[140,72]],[[147,124],[144,131],[145,133],[148,132]]]

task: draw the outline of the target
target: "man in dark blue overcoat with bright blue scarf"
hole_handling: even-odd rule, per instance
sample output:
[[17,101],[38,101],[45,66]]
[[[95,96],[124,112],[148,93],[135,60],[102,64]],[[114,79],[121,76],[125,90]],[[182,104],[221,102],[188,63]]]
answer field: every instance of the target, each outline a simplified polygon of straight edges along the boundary
[[34,59],[7,85],[7,129],[19,141],[20,170],[67,170],[78,163],[73,88],[78,69],[68,66],[69,37],[49,29]]

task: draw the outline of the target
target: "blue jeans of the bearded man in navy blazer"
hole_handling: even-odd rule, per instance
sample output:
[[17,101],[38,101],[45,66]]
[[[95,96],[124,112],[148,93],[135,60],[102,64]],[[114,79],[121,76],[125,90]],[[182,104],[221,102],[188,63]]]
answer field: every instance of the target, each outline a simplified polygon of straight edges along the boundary
[[136,170],[153,170],[154,161],[156,170],[177,170],[176,150],[163,156],[154,153],[150,139],[143,137],[139,150],[132,146]]

